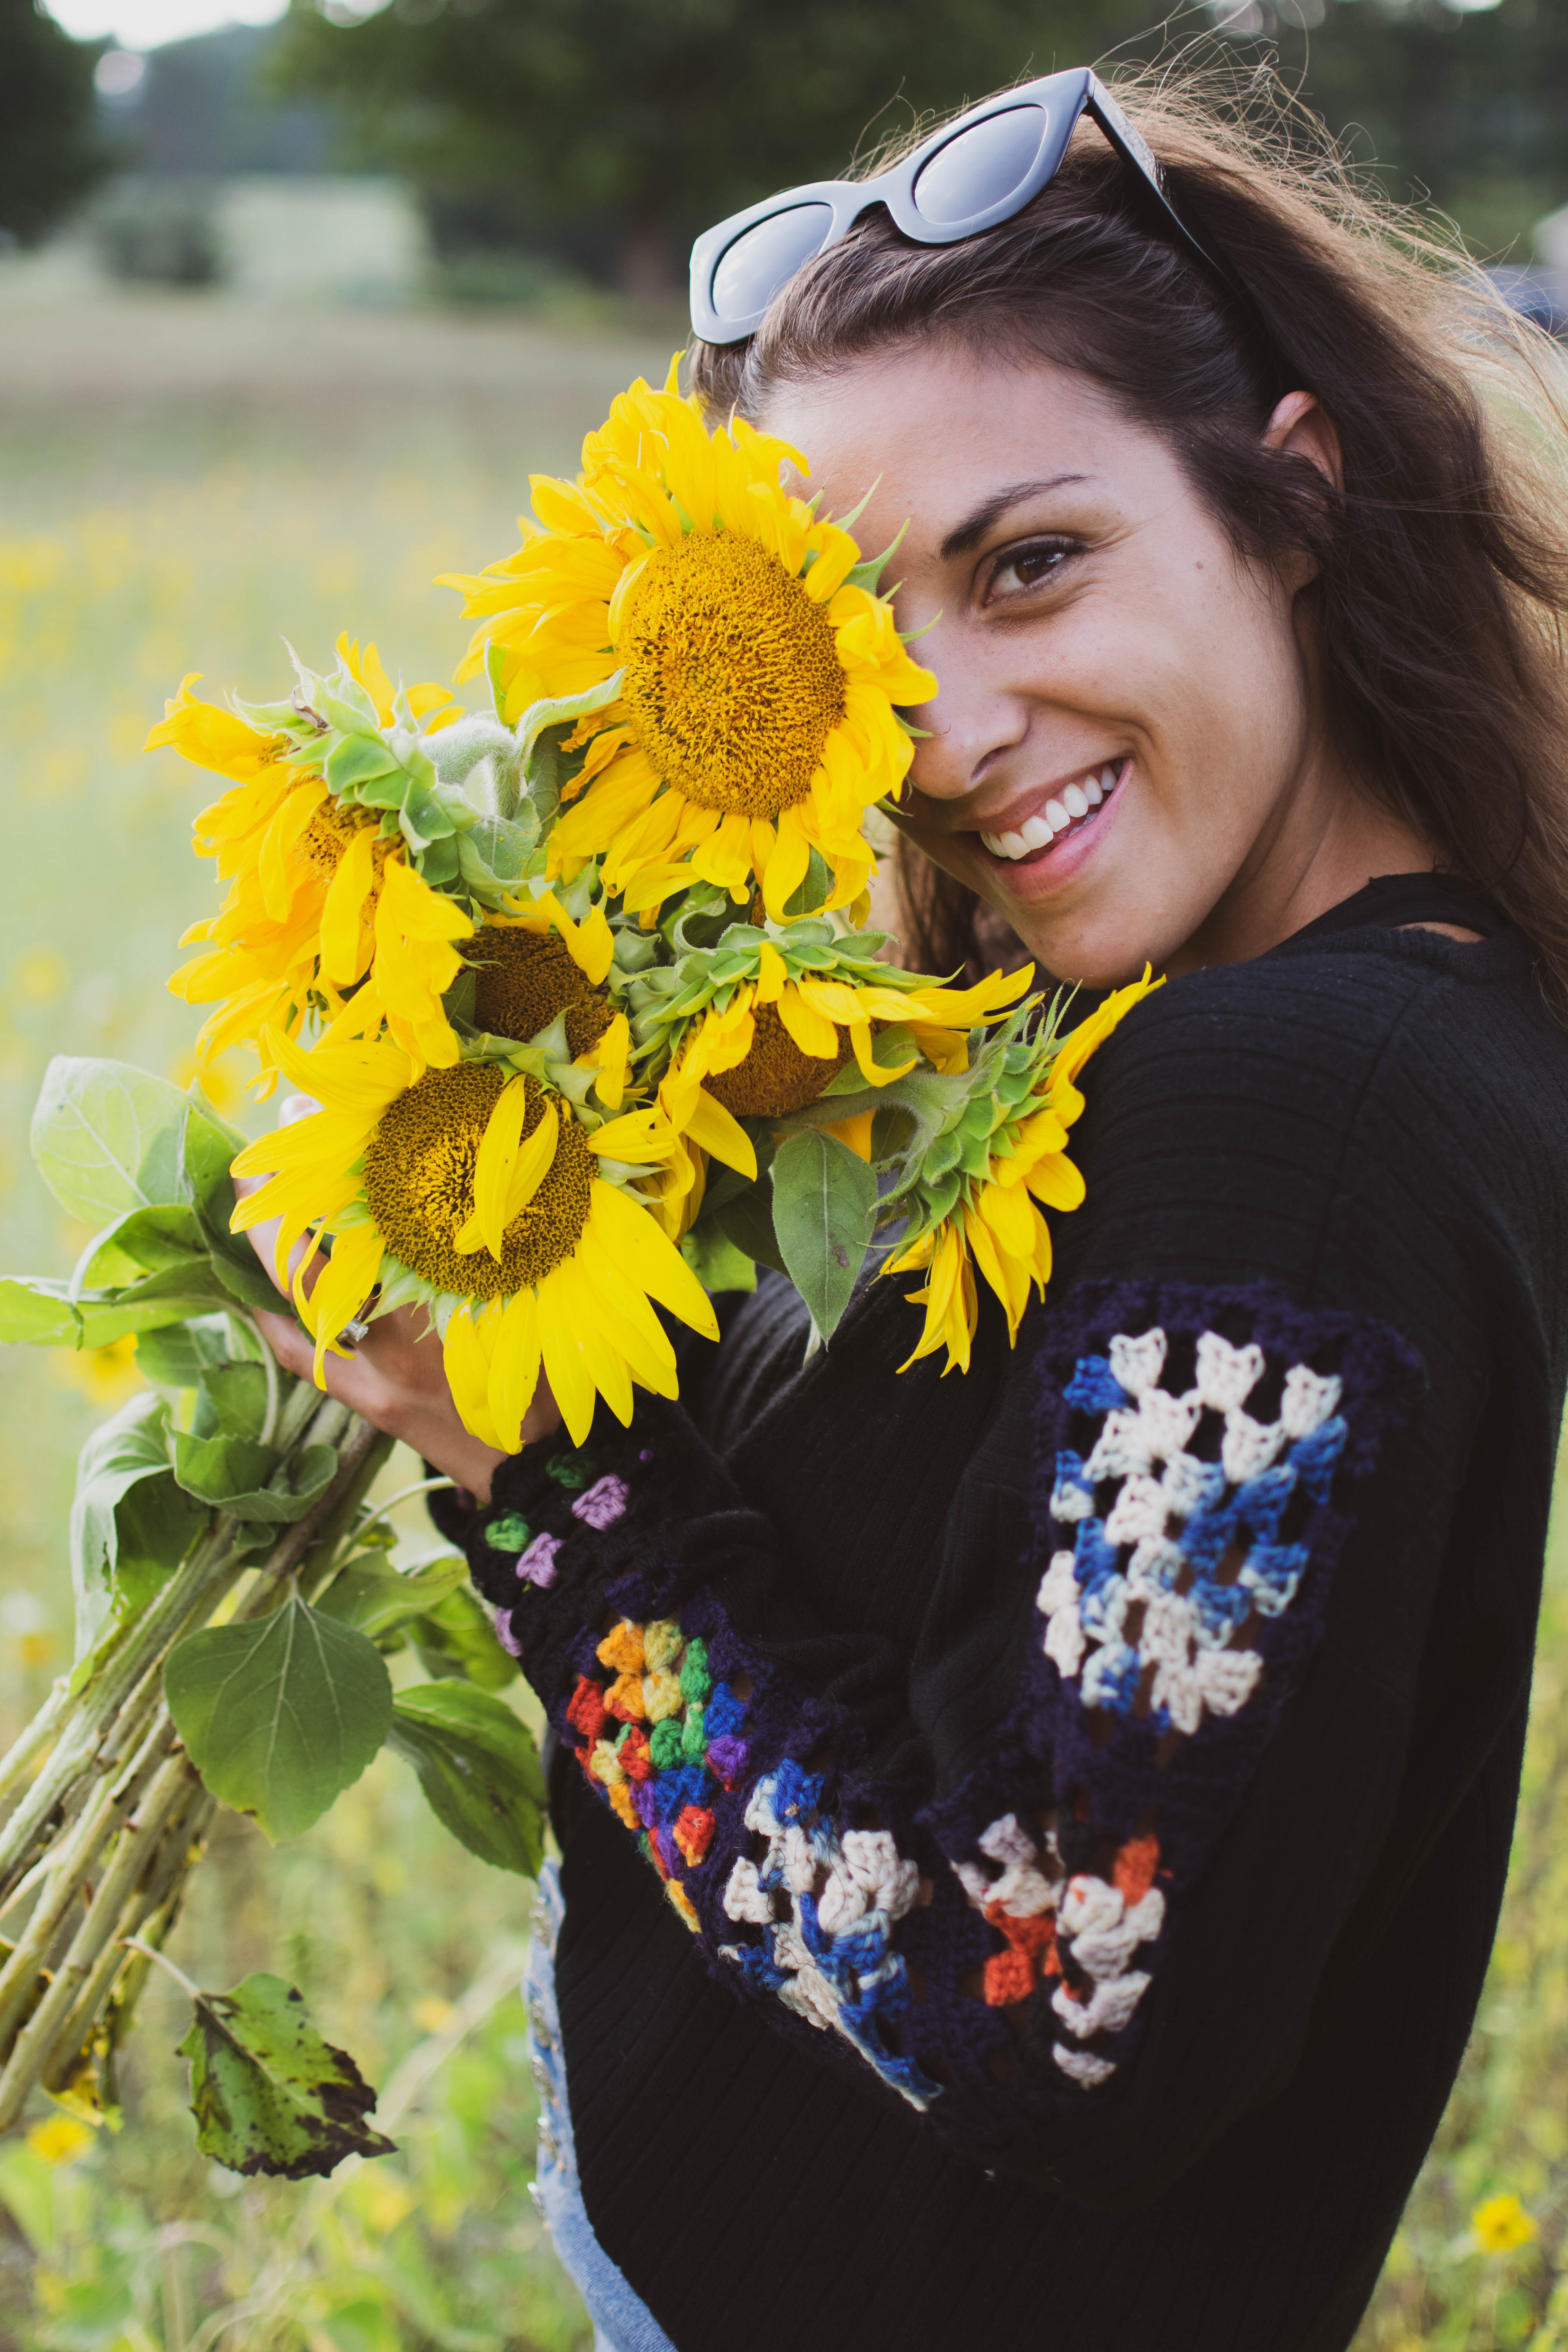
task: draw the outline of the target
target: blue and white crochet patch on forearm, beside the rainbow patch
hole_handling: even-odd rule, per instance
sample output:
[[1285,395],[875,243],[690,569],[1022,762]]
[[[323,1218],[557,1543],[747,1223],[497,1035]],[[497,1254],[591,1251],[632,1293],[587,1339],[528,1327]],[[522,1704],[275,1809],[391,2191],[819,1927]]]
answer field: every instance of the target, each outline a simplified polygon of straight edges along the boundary
[[844,1830],[823,1811],[823,1773],[790,1757],[764,1773],[745,1828],[766,1837],[762,1863],[729,1872],[724,1910],[764,1929],[762,1943],[726,1943],[755,1992],[773,1992],[809,2025],[844,2039],[912,2107],[940,2091],[912,2058],[886,2042],[886,2025],[910,2004],[893,1929],[919,1896],[919,1870],[886,1830]]

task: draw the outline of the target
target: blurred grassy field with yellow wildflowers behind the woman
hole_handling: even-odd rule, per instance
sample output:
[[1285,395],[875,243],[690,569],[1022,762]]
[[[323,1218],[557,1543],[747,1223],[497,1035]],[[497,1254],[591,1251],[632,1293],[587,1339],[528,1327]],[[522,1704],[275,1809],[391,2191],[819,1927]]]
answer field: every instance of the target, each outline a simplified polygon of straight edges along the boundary
[[[200,781],[139,753],[165,691],[186,670],[214,696],[282,691],[280,635],[320,663],[341,628],[376,637],[409,677],[449,673],[463,630],[430,576],[505,553],[529,470],[571,470],[607,397],[637,369],[663,374],[668,350],[668,334],[611,327],[167,294],[61,303],[0,270],[0,1270],[61,1272],[82,1240],[26,1152],[47,1056],[188,1070],[195,1018],[162,981],[212,877],[188,854]],[[221,1073],[230,1110],[242,1077]],[[118,1378],[0,1350],[2,1736],[68,1661],[71,1470]],[[1486,2009],[1359,2352],[1568,2347],[1568,2286],[1554,2288],[1568,2237],[1566,1682],[1559,1557]],[[209,2169],[172,2056],[181,2004],[153,1987],[125,2133],[85,2152],[49,2133],[0,2147],[0,2347],[583,2347],[527,2199],[534,2103],[505,1990],[527,1910],[524,1882],[461,1853],[386,1757],[296,1846],[273,1851],[228,1816],[176,1957],[207,1985],[254,1966],[301,1983],[371,2082],[409,2086],[402,2154],[324,2187]],[[1486,2251],[1476,2209],[1483,2234],[1516,2244]]]

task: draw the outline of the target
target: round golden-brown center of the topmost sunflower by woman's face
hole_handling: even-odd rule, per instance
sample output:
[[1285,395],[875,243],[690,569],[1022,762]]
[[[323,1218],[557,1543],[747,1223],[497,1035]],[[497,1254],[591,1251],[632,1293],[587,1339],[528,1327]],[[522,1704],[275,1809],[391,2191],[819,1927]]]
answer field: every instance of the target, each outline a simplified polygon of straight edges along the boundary
[[623,701],[665,783],[701,809],[778,816],[844,717],[827,614],[755,539],[693,532],[630,593]]

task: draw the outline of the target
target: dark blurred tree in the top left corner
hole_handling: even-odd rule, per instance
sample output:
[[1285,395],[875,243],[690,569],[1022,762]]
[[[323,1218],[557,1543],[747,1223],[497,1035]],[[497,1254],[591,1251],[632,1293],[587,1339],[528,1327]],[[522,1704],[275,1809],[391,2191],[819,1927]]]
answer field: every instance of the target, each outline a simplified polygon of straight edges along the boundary
[[92,68],[42,0],[0,0],[0,235],[38,238],[108,169]]

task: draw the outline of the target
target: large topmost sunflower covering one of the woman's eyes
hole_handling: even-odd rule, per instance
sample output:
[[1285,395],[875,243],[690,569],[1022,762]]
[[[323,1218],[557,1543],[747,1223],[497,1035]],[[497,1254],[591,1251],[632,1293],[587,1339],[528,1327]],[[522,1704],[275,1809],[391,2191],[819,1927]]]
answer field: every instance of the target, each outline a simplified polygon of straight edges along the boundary
[[637,381],[583,442],[578,485],[534,477],[543,529],[477,576],[449,574],[477,619],[458,677],[489,668],[505,715],[621,677],[564,750],[585,753],[550,875],[604,858],[604,887],[651,910],[691,882],[766,913],[820,866],[849,906],[872,851],[865,809],[898,793],[912,741],[898,706],[936,680],[905,654],[856,541],[780,487],[799,452],[736,416]]

